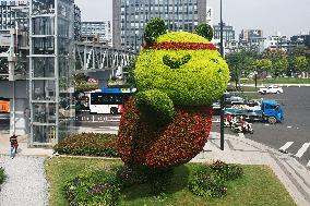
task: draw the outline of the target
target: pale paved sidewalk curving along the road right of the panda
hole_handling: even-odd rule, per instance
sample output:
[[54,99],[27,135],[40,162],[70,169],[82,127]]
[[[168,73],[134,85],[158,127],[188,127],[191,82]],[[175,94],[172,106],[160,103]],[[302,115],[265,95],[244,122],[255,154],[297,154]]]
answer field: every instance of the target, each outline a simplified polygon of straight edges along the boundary
[[204,150],[192,162],[223,160],[227,163],[267,165],[285,185],[297,205],[310,205],[310,171],[295,158],[259,144],[245,135],[225,134],[225,150],[219,149],[218,133],[211,133]]

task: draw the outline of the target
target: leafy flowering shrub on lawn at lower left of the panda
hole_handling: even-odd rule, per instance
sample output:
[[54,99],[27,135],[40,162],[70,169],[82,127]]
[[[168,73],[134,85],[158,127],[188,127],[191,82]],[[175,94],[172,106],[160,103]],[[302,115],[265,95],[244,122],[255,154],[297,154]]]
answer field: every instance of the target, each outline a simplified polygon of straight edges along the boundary
[[120,195],[120,183],[112,170],[80,174],[67,182],[64,193],[69,205],[117,205]]

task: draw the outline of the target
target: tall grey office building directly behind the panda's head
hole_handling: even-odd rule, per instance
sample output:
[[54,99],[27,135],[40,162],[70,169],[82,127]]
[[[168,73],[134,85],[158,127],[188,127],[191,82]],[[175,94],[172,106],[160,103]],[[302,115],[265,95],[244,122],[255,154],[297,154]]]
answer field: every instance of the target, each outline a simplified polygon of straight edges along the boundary
[[165,21],[168,31],[192,32],[206,22],[206,0],[114,0],[114,46],[138,50],[145,24],[153,17]]

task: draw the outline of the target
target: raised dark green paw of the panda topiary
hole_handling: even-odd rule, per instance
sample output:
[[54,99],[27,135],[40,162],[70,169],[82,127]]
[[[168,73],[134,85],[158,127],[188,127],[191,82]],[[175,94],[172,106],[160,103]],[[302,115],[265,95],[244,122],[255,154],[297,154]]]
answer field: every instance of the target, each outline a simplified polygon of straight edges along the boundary
[[158,89],[138,93],[135,102],[143,121],[163,125],[171,121],[175,116],[174,102],[166,93]]

